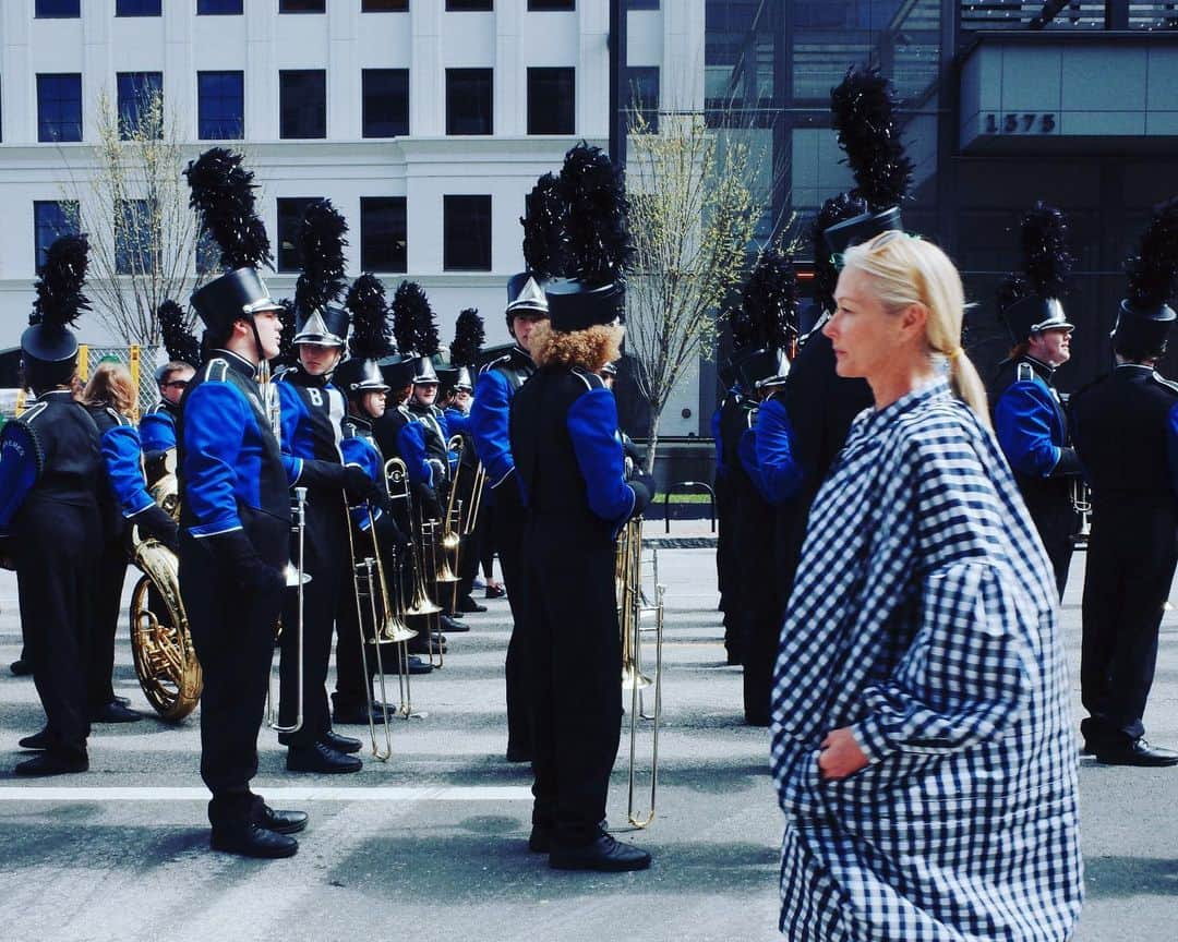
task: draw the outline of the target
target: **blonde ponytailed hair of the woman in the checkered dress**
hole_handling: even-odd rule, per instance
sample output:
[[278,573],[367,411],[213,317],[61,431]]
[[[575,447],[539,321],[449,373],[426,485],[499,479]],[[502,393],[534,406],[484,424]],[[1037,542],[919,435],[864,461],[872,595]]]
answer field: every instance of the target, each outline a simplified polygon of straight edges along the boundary
[[860,271],[872,279],[880,301],[888,311],[899,312],[913,304],[924,305],[928,311],[925,339],[929,353],[948,360],[953,392],[990,429],[986,387],[961,349],[965,288],[948,256],[931,241],[893,230],[848,248],[842,259],[843,267]]

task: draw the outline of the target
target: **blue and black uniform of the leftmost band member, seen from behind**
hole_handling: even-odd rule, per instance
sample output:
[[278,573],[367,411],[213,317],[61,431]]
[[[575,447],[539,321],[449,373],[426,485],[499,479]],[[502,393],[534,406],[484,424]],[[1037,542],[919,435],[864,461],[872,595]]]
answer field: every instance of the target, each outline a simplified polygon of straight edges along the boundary
[[[0,535],[16,569],[24,657],[46,717],[48,752],[86,757],[87,664],[98,591],[104,484],[98,429],[68,390],[42,392],[13,424],[34,443],[0,449],[0,480],[22,479],[2,498]],[[12,430],[15,432],[16,430]],[[41,456],[34,473],[29,453]]]

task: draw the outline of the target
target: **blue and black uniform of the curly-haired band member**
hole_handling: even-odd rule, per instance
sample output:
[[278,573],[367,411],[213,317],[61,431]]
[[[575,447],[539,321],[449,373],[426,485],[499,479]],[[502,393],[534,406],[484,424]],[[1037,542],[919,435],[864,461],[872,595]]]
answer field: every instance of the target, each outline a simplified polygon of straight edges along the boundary
[[567,847],[594,841],[605,816],[622,717],[615,540],[649,500],[643,484],[624,478],[616,432],[613,393],[582,370],[541,369],[511,404],[527,505],[532,823],[555,828]]

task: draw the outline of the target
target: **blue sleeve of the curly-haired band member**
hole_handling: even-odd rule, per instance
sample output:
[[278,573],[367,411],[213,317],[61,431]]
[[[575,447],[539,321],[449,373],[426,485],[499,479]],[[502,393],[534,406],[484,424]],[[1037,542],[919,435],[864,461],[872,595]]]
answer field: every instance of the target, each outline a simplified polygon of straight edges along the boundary
[[564,423],[585,480],[589,509],[603,520],[624,523],[634,511],[635,495],[626,483],[614,393],[589,390],[569,406]]

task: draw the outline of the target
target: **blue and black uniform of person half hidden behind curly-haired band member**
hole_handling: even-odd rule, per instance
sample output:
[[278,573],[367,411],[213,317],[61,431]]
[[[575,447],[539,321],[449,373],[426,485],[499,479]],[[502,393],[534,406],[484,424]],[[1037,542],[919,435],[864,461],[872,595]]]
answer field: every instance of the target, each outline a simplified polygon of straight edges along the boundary
[[[507,655],[508,755],[524,759],[531,755],[529,659],[524,618],[523,502],[516,479],[510,423],[511,403],[536,364],[518,346],[488,363],[475,382],[470,431],[478,459],[487,470],[491,495],[492,531],[511,606],[511,639]],[[485,500],[485,498],[484,498]]]

